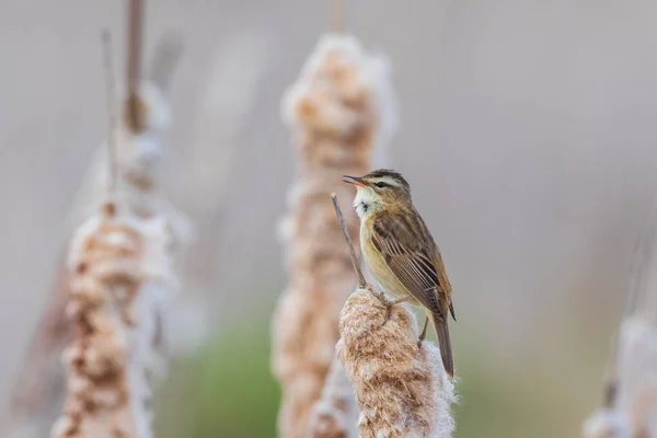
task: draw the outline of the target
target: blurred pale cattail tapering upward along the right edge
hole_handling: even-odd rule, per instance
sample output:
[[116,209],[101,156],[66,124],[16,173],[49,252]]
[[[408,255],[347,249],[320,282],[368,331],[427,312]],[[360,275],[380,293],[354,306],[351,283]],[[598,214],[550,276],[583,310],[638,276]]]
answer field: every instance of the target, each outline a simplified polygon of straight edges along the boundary
[[654,203],[635,246],[621,326],[612,336],[602,407],[584,426],[587,438],[657,435],[656,227]]

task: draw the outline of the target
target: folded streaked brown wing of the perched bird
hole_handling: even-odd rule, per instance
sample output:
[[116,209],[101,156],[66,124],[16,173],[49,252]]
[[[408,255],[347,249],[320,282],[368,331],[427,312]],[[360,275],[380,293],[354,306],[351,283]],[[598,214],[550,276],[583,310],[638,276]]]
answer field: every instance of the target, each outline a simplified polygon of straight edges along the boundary
[[435,244],[424,223],[408,223],[402,216],[374,219],[372,243],[397,280],[424,307],[445,318],[438,303],[440,279],[436,270]]

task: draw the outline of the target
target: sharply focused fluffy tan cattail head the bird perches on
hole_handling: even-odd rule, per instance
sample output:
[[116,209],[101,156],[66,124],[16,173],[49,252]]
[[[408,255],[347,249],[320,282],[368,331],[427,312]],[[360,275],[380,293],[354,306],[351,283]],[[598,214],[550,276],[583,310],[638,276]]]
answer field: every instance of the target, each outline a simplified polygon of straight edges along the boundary
[[417,346],[415,316],[387,307],[373,289],[357,289],[339,318],[337,357],[354,385],[362,438],[451,437],[454,388],[433,343]]

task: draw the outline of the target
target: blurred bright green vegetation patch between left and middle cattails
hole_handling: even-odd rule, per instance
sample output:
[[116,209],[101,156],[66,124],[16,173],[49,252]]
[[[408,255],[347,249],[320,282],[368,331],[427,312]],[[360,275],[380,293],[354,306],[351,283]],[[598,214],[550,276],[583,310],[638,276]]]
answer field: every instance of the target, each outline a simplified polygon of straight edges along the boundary
[[269,326],[244,324],[175,364],[157,397],[155,436],[276,437],[280,391],[269,353]]

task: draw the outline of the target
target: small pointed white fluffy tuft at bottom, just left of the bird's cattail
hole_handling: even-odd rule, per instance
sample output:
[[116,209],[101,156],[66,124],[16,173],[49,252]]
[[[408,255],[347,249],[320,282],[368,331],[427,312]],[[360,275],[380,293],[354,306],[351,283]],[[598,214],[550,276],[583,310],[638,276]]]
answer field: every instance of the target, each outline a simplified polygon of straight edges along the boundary
[[312,438],[355,437],[356,401],[345,368],[337,357],[324,383],[322,396],[314,404],[310,419]]

